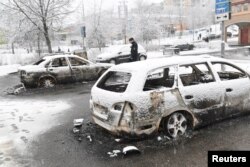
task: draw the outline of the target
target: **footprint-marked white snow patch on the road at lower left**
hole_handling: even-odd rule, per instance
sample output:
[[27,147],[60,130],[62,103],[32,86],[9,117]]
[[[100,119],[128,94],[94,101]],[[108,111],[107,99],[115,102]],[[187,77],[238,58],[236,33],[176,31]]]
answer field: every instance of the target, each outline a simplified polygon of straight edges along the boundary
[[27,142],[58,125],[57,116],[69,108],[70,105],[61,100],[0,99],[0,155],[5,167],[17,166],[15,159],[11,159],[17,152],[32,156],[26,150]]

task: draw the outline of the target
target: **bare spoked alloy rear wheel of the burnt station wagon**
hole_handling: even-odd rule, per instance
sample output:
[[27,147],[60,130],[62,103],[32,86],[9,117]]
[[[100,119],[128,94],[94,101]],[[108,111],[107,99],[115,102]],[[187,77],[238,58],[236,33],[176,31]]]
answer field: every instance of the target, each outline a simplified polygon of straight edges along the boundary
[[175,112],[164,120],[164,131],[171,138],[178,138],[186,134],[188,119],[183,113]]

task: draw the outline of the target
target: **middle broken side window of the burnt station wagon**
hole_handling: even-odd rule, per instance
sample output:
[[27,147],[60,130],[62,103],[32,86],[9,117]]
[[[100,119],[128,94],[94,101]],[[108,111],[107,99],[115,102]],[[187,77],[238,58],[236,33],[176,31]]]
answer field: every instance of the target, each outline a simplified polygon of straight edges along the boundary
[[214,76],[207,63],[183,65],[179,67],[183,86],[214,82]]

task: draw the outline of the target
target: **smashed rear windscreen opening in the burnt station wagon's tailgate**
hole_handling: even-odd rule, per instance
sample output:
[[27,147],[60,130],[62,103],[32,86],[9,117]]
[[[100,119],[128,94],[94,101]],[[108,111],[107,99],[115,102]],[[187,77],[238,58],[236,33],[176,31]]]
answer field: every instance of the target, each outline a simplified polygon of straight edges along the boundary
[[130,78],[130,73],[110,71],[97,84],[97,87],[112,92],[125,92]]

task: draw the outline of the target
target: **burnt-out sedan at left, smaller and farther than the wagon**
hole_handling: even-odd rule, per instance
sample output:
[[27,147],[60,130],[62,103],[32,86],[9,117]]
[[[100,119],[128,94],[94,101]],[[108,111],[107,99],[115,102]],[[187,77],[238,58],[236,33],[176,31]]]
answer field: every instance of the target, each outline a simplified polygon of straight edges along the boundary
[[94,64],[76,55],[46,56],[33,65],[19,68],[26,87],[53,87],[98,79],[112,64]]

